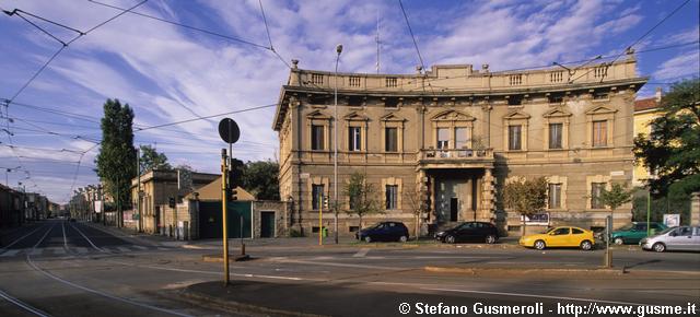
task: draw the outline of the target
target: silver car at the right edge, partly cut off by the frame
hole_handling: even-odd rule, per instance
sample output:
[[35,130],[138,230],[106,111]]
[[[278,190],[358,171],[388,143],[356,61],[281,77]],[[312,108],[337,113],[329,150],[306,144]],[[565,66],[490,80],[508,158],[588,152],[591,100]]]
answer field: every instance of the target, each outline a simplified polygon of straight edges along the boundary
[[643,238],[642,249],[663,253],[665,250],[700,251],[700,226],[675,226]]

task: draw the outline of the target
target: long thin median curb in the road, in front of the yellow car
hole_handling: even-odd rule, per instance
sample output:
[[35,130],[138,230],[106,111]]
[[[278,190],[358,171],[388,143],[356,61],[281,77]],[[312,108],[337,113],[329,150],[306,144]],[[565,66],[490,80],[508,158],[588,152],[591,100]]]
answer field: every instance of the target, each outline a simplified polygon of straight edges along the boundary
[[538,268],[538,269],[509,269],[509,268],[459,268],[459,267],[423,267],[423,270],[427,272],[434,273],[459,273],[459,274],[469,274],[477,275],[483,273],[515,273],[523,275],[532,275],[534,273],[555,273],[555,274],[569,274],[569,273],[600,273],[606,275],[622,275],[628,273],[625,269],[605,269],[605,268],[595,268],[595,269],[557,269],[557,268]]

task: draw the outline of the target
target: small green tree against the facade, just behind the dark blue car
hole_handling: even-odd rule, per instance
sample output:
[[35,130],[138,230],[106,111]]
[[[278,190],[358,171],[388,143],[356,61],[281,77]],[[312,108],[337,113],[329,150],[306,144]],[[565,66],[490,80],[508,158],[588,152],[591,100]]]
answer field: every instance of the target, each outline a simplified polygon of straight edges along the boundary
[[360,219],[360,228],[362,228],[363,216],[382,213],[380,202],[376,200],[376,189],[366,180],[365,174],[354,172],[350,175],[350,180],[345,188],[345,195],[350,199],[350,209],[346,212]]

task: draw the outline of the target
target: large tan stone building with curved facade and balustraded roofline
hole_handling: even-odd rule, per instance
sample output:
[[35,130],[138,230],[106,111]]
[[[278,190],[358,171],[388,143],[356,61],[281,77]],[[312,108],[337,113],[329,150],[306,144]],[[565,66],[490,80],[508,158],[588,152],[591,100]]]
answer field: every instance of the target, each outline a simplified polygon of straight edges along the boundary
[[[433,228],[479,220],[509,232],[521,225],[499,199],[510,179],[546,176],[547,224],[584,227],[602,226],[609,214],[597,198],[600,188],[632,180],[633,103],[648,81],[632,55],[572,68],[491,72],[488,64],[459,64],[337,77],[298,63],[282,86],[273,129],[280,195],[292,206],[291,227],[304,234],[318,230],[319,195],[334,198],[334,128],[339,234],[359,225],[343,212],[353,172],[378,188],[384,213],[368,222],[392,219],[412,227],[424,206],[419,219]],[[616,226],[630,220],[630,208],[616,210]],[[323,218],[326,225],[332,212]]]

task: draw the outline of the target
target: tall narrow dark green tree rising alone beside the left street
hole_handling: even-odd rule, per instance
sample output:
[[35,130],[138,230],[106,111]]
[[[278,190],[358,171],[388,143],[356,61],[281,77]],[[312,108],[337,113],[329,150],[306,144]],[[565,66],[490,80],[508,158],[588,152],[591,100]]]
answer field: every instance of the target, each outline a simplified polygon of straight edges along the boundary
[[[133,110],[118,99],[107,99],[101,120],[102,142],[95,157],[97,176],[105,190],[115,198],[119,207],[130,199],[131,179],[137,175],[136,149],[133,149]],[[118,215],[121,220],[121,214]]]

